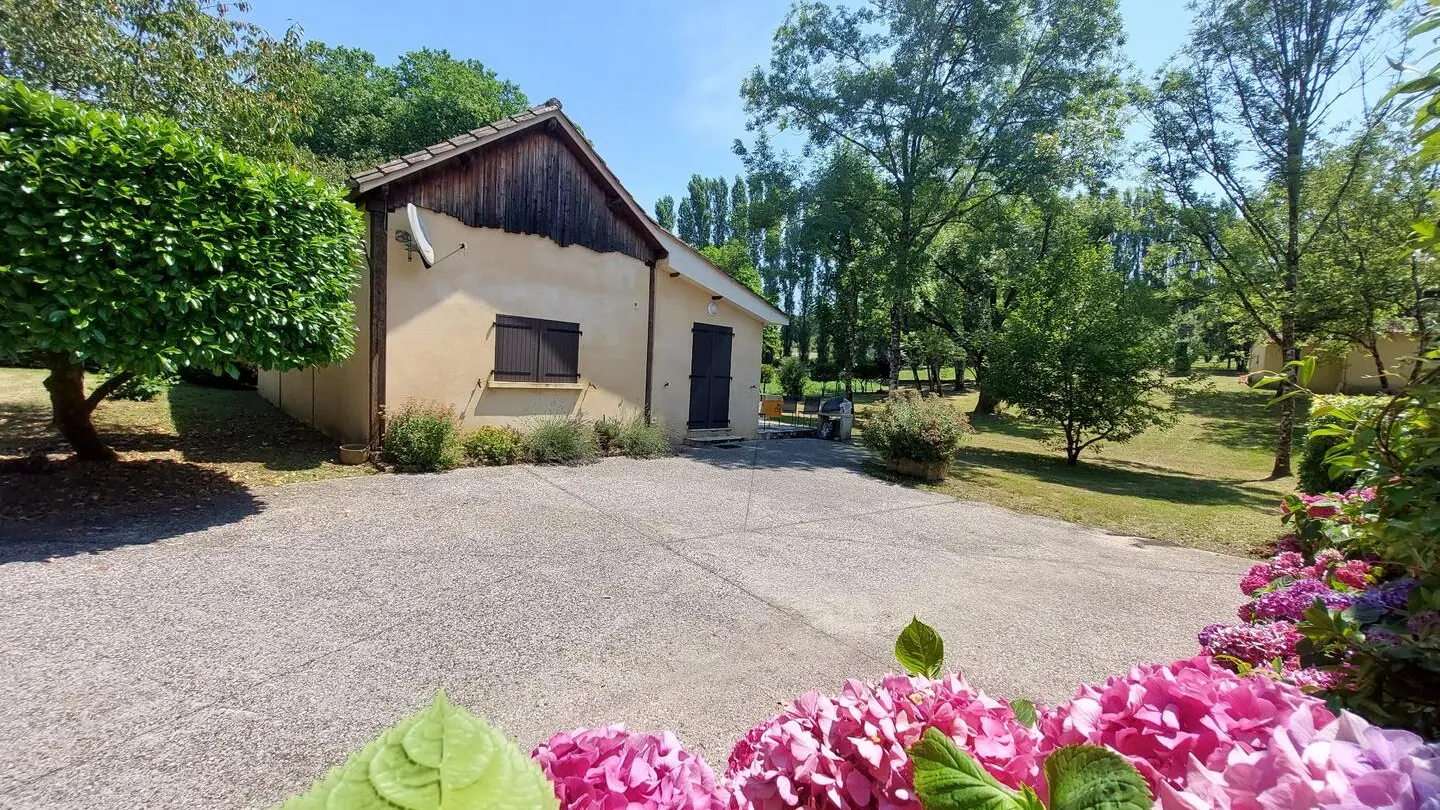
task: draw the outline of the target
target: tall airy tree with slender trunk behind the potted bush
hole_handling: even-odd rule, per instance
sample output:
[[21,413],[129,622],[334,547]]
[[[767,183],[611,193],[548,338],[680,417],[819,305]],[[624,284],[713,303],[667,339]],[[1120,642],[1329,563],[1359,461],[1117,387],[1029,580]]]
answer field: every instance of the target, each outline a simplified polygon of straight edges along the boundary
[[1115,128],[1122,40],[1112,0],[798,3],[776,30],[742,86],[752,124],[848,143],[884,183],[891,389],[930,245],[992,196],[1064,182],[1090,147],[1076,128]]

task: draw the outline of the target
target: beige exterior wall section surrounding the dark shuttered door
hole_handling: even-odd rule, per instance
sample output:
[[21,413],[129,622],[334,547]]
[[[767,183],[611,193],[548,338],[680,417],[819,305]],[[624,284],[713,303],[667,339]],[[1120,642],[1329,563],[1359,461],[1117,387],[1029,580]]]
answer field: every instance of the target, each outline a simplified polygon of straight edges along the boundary
[[691,327],[714,323],[734,329],[730,350],[730,430],[755,438],[760,402],[760,346],[765,324],[727,300],[716,301],[710,314],[710,291],[685,277],[671,278],[662,262],[655,272],[655,357],[651,415],[672,435],[685,432],[690,418]]

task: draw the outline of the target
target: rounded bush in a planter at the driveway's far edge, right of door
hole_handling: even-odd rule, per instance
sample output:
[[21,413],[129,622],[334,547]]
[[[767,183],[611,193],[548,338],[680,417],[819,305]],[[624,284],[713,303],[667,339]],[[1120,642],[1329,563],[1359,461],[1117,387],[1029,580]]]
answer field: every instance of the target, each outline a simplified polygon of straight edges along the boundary
[[968,431],[953,405],[907,388],[870,412],[860,441],[886,461],[949,461]]

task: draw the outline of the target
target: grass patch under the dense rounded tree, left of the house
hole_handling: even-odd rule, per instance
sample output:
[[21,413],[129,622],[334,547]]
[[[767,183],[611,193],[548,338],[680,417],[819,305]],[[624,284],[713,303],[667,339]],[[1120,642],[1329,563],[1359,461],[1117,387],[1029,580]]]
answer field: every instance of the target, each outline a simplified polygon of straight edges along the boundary
[[[336,460],[336,442],[291,419],[253,391],[177,385],[153,402],[107,401],[95,425],[117,464],[62,458],[42,369],[0,369],[0,519],[35,519],[153,500],[314,481],[373,471]],[[91,380],[94,382],[94,380]],[[48,474],[19,457],[52,454]]]

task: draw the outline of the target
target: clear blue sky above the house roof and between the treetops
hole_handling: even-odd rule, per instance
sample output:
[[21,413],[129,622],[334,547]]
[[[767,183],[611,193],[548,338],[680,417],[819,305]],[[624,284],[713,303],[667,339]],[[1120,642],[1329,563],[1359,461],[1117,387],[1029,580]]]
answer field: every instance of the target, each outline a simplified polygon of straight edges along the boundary
[[[1181,0],[1122,0],[1126,50],[1149,75],[1184,42]],[[564,102],[625,187],[651,208],[690,174],[736,174],[740,79],[769,58],[788,0],[251,0],[271,32],[373,52],[480,59],[539,104]]]

